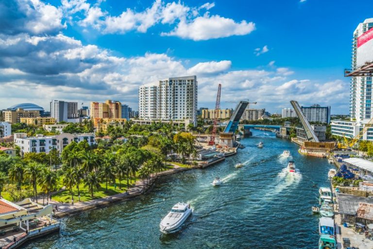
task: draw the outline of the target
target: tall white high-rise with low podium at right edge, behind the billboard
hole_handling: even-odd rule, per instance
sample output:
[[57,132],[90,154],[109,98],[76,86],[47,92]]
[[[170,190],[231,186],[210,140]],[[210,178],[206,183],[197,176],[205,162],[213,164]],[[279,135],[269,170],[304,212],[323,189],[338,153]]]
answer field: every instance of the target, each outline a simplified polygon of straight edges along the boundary
[[[373,18],[365,19],[364,22],[357,25],[356,30],[353,33],[351,56],[351,69],[353,71],[362,66],[359,65],[359,63],[361,64],[361,62],[359,62],[361,59],[358,57],[359,37],[372,28]],[[359,56],[360,55],[361,53]],[[373,58],[373,50],[365,51],[363,56]],[[350,82],[351,122],[332,121],[332,134],[340,137],[355,137],[365,124],[373,118],[372,112],[372,77],[352,77]],[[362,139],[373,141],[373,128],[369,128],[363,135]]]

